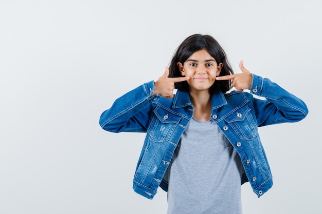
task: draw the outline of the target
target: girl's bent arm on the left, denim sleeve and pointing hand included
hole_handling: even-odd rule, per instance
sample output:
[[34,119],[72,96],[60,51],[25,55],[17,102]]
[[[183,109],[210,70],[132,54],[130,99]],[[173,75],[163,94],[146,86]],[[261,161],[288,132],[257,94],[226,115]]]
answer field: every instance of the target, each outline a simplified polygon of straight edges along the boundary
[[[99,120],[100,126],[111,132],[146,132],[154,95],[173,98],[174,83],[186,81],[189,77],[168,78],[169,69],[153,81],[145,83],[118,98],[108,110],[105,110]],[[152,99],[153,99],[152,98]]]

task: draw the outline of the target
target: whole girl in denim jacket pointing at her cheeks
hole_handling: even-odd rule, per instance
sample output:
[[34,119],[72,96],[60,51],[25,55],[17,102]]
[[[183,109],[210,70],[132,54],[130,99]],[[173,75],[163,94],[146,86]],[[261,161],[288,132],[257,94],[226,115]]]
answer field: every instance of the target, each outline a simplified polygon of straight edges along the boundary
[[232,214],[242,213],[241,184],[249,181],[258,197],[272,187],[257,127],[300,121],[308,109],[242,61],[239,67],[242,73],[234,74],[213,37],[191,35],[156,82],[102,113],[104,130],[147,133],[134,191],[152,199],[160,186],[168,192],[168,213]]

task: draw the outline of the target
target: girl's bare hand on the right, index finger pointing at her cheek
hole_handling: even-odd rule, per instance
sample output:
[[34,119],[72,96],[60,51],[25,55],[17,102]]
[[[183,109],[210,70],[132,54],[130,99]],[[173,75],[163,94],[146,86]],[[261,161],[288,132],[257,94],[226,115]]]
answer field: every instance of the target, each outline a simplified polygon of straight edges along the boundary
[[236,88],[237,91],[243,91],[249,89],[253,83],[253,75],[243,65],[243,61],[240,61],[239,68],[242,73],[218,76],[216,80],[232,80],[231,85]]

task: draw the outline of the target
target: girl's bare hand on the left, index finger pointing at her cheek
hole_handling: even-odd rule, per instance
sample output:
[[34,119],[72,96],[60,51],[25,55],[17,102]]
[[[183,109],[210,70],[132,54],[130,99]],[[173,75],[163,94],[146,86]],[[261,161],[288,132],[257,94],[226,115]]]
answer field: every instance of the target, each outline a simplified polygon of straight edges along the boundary
[[169,75],[169,68],[166,67],[166,71],[162,76],[157,79],[157,81],[154,83],[154,91],[151,94],[159,94],[161,96],[164,96],[165,98],[173,98],[173,89],[174,89],[174,83],[183,82],[186,80],[189,80],[190,77],[173,77],[168,78]]

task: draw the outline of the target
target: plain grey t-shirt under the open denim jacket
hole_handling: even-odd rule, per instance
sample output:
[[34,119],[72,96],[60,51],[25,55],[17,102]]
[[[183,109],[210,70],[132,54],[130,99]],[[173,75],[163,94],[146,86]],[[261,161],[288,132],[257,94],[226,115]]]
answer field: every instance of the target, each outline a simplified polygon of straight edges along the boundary
[[241,214],[242,163],[213,121],[191,119],[169,169],[168,214]]

